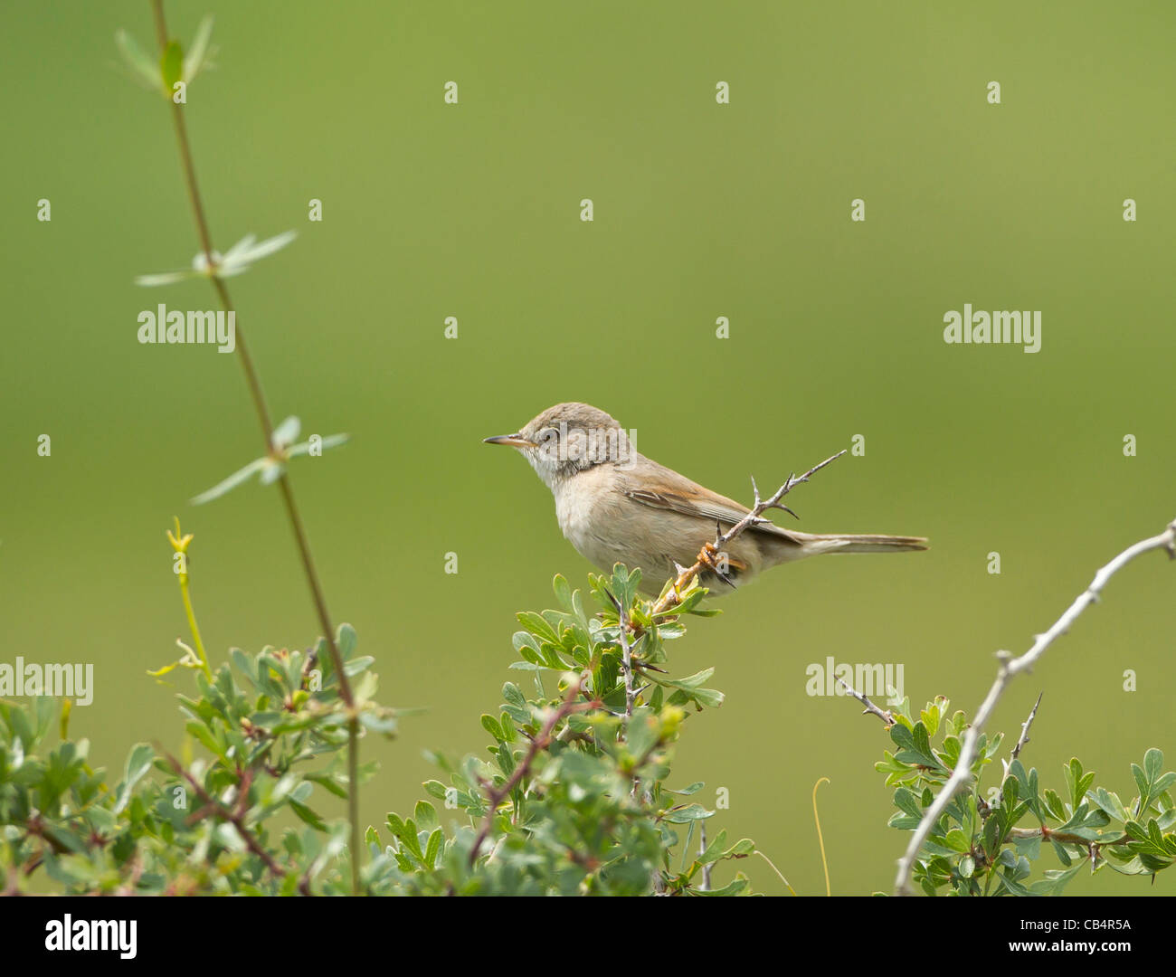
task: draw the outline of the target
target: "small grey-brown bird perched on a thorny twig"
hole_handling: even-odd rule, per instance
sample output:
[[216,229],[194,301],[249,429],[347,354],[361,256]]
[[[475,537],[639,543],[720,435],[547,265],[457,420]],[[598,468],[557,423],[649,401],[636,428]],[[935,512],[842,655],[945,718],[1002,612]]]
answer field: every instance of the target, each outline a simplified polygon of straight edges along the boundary
[[[555,496],[555,516],[576,551],[606,573],[614,563],[640,567],[641,589],[657,594],[706,543],[749,511],[640,454],[603,410],[557,403],[515,434],[485,439],[517,448]],[[724,573],[707,569],[715,596],[750,582],[761,570],[821,553],[901,553],[927,549],[918,536],[813,534],[763,520],[726,544]]]

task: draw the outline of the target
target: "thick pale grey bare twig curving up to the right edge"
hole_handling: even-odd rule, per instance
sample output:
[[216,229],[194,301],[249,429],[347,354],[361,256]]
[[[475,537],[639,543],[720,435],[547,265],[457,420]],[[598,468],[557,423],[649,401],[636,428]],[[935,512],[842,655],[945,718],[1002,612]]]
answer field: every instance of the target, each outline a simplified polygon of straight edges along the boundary
[[[1150,553],[1154,549],[1167,550],[1169,557],[1176,558],[1176,521],[1169,523],[1168,528],[1164,529],[1164,531],[1158,536],[1141,540],[1138,543],[1128,547],[1118,556],[1111,560],[1110,563],[1100,569],[1098,573],[1095,574],[1090,585],[1078,595],[1077,600],[1075,600],[1065,613],[1054,622],[1053,627],[1050,627],[1048,631],[1036,636],[1033,647],[1021,657],[1014,658],[1008,651],[997,653],[1000,667],[996,681],[993,682],[993,688],[988,690],[988,696],[981,703],[980,709],[976,710],[971,725],[968,727],[968,730],[963,735],[963,742],[960,745],[960,757],[956,761],[955,770],[951,771],[951,776],[948,778],[948,782],[940,789],[940,792],[931,803],[931,807],[929,807],[923,814],[923,819],[918,823],[918,828],[916,828],[911,835],[910,843],[907,845],[906,852],[903,852],[902,858],[898,859],[898,872],[895,877],[894,884],[896,895],[910,895],[910,872],[915,864],[915,859],[918,857],[918,852],[923,846],[923,842],[927,841],[927,836],[931,832],[931,827],[940,819],[940,817],[943,816],[943,811],[951,802],[951,798],[956,795],[956,791],[964,785],[964,782],[971,778],[971,762],[976,756],[976,743],[980,740],[981,732],[984,730],[984,724],[993,715],[996,703],[1000,702],[1001,696],[1004,694],[1005,687],[1013,681],[1014,676],[1022,671],[1029,671],[1034,664],[1036,664],[1037,660],[1044,654],[1045,649],[1070,629],[1070,625],[1077,620],[1082,611],[1098,600],[1103,588],[1107,585],[1107,582],[1116,573],[1118,573],[1118,570],[1123,569],[1123,567],[1135,560],[1136,556]],[[1022,735],[1025,735],[1027,732],[1028,723],[1022,728]]]

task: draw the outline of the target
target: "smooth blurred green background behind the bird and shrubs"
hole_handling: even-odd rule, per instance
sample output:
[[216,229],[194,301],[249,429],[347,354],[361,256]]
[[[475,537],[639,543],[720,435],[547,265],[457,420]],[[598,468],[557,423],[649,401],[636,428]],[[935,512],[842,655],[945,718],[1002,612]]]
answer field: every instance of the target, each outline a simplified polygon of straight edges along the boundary
[[[185,44],[218,15],[186,109],[215,242],[300,234],[230,289],[275,420],[353,435],[293,473],[332,614],[385,702],[430,707],[366,741],[367,821],[420,796],[426,748],[481,749],[479,715],[519,677],[514,611],[590,569],[528,466],[482,437],[586,400],[747,498],[749,474],[779,483],[861,434],[863,457],[793,494],[800,528],[931,551],[776,570],[695,622],[673,668],[716,665],[727,702],[690,722],[675,779],[708,804],[727,788],[714,824],[817,894],[829,777],[833,891],[889,889],[888,740],[806,696],[806,665],[901,662],[913,701],[971,712],[996,649],[1024,650],[1176,515],[1176,11],[1027,6],[167,5]],[[153,45],[148,5],[20,0],[4,21],[0,660],[94,662],[73,731],[119,770],[133,742],[179,742],[174,690],[146,675],[186,636],[173,514],[214,660],[318,625],[275,490],[187,503],[259,453],[236,357],[135,341],[140,310],[214,301],[133,285],[198,250],[167,105],[118,67],[118,27]],[[944,344],[964,302],[1041,309],[1042,352]],[[1047,783],[1077,755],[1131,796],[1148,747],[1176,764],[1172,587],[1158,555],[1130,567],[1005,697],[994,728],[1015,736],[1045,690],[1025,758]],[[1069,891],[1174,894],[1176,872]]]

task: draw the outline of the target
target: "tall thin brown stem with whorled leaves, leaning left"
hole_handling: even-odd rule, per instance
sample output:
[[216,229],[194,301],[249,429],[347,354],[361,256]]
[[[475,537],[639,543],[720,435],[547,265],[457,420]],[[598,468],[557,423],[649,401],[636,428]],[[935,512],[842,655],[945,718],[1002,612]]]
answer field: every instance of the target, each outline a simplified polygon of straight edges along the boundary
[[[152,4],[155,12],[155,36],[159,41],[160,54],[167,49],[167,21],[163,18],[163,0],[153,0]],[[183,178],[185,185],[188,190],[188,200],[192,203],[192,213],[196,222],[196,233],[200,235],[200,247],[205,253],[205,261],[209,272],[209,277],[213,283],[213,288],[216,289],[216,294],[220,297],[221,305],[225,307],[226,312],[233,312],[235,315],[235,309],[233,307],[232,299],[228,294],[228,288],[226,288],[225,282],[216,275],[216,266],[213,260],[213,241],[212,234],[208,230],[208,220],[205,216],[205,207],[200,196],[200,185],[196,182],[196,169],[192,159],[192,146],[188,142],[188,129],[183,120],[183,107],[179,102],[171,100],[172,102],[172,121],[175,125],[175,136],[180,147],[180,162],[183,166]],[[246,383],[249,387],[249,394],[253,397],[253,406],[258,413],[258,420],[261,422],[262,436],[266,441],[266,451],[273,451],[273,434],[274,427],[269,416],[269,408],[266,404],[266,397],[261,389],[261,381],[258,377],[258,372],[253,366],[253,359],[249,356],[248,347],[245,342],[245,336],[241,333],[240,327],[236,329],[236,349],[240,354],[241,366],[245,369]],[[286,511],[290,520],[290,526],[294,529],[294,536],[298,541],[299,555],[302,558],[302,569],[306,573],[307,583],[310,585],[310,594],[314,598],[315,610],[319,615],[319,624],[322,628],[323,637],[327,641],[327,645],[330,649],[330,660],[335,668],[335,675],[339,678],[339,691],[342,696],[343,702],[347,704],[349,711],[354,714],[355,710],[355,698],[352,694],[350,682],[347,680],[347,674],[343,670],[343,660],[339,654],[339,647],[335,643],[335,631],[330,625],[330,616],[327,613],[327,602],[322,594],[322,585],[319,583],[319,574],[315,570],[314,558],[310,555],[310,546],[306,537],[306,531],[302,528],[302,520],[299,516],[298,506],[294,502],[294,493],[289,484],[289,476],[286,471],[278,480],[281,486],[282,498],[286,503]],[[348,771],[350,775],[350,782],[348,784],[348,816],[350,819],[350,835],[352,835],[352,891],[359,895],[360,891],[360,821],[359,821],[359,720],[356,716],[352,716],[347,724],[347,750],[348,750]]]

